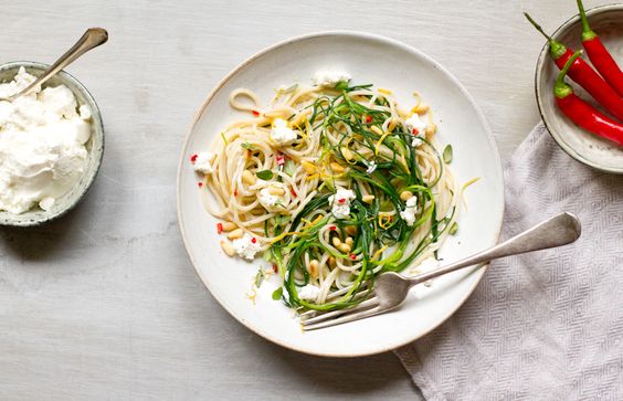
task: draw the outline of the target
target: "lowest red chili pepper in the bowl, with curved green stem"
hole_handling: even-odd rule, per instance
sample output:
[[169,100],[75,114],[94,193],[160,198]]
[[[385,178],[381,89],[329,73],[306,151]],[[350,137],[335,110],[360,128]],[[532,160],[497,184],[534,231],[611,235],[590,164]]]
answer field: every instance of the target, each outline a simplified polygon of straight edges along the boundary
[[564,83],[564,76],[581,53],[581,51],[574,53],[558,74],[556,85],[553,86],[556,103],[562,113],[580,127],[600,137],[610,139],[617,145],[623,145],[623,125],[601,114],[590,104],[582,101],[573,93],[571,85]]

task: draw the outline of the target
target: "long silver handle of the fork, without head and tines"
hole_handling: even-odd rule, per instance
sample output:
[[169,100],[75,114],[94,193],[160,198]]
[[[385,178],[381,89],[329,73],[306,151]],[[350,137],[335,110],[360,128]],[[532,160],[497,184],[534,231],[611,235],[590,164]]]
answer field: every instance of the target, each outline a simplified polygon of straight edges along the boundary
[[496,246],[447,266],[408,278],[408,281],[413,286],[460,268],[489,262],[495,258],[567,245],[578,240],[580,233],[580,220],[574,214],[560,213]]

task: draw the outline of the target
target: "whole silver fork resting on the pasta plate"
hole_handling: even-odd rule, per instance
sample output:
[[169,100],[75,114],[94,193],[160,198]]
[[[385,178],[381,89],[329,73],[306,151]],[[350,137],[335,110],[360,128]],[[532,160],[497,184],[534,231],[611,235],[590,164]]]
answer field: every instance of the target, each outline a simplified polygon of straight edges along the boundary
[[[499,257],[567,245],[578,240],[580,233],[580,220],[571,213],[560,213],[496,246],[447,266],[414,277],[403,277],[393,272],[380,274],[374,281],[370,299],[351,308],[327,313],[312,310],[304,313],[300,315],[300,325],[304,330],[315,330],[380,315],[398,308],[406,298],[411,287],[431,278]],[[340,292],[346,294],[347,291],[344,288]],[[331,294],[330,297],[335,297],[335,294]],[[360,297],[362,294],[356,294],[356,296]]]

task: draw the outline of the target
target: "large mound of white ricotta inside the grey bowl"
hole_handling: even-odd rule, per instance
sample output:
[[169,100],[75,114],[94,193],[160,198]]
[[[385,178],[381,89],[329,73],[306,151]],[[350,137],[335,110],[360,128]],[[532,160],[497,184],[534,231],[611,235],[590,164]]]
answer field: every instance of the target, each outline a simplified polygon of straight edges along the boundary
[[[21,67],[0,84],[13,95],[35,77]],[[67,193],[86,169],[91,112],[65,85],[38,88],[14,102],[0,102],[0,210],[23,213],[36,204],[47,210]]]

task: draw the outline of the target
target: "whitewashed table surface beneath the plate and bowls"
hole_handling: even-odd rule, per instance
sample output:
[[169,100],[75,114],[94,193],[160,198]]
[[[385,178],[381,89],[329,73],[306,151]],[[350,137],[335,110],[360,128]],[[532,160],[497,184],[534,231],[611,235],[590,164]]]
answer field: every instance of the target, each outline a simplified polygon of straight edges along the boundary
[[[592,7],[602,1],[585,1]],[[337,360],[270,344],[203,287],[176,219],[176,170],[199,104],[233,66],[332,29],[424,51],[484,109],[503,159],[539,120],[532,73],[567,0],[12,1],[2,62],[52,62],[85,28],[110,40],[68,71],[97,99],[105,160],[86,200],[44,228],[0,229],[0,399],[401,399],[392,353]]]

